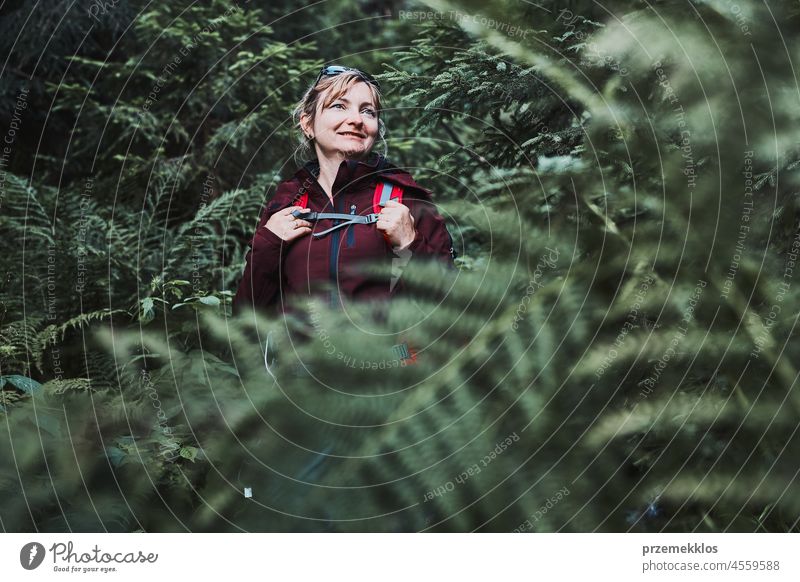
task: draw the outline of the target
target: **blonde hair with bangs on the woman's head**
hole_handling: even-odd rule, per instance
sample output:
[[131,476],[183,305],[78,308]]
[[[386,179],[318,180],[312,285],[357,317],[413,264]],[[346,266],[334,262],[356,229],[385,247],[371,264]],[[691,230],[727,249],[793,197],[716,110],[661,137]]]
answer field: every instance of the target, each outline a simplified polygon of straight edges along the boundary
[[319,83],[308,88],[300,102],[295,105],[294,111],[292,111],[292,119],[295,127],[300,131],[300,143],[295,152],[296,157],[299,156],[304,161],[315,155],[314,138],[308,137],[303,131],[300,119],[303,116],[307,116],[309,123],[313,125],[317,116],[317,104],[319,103],[320,95],[330,89],[325,101],[322,103],[322,107],[325,108],[347,93],[350,87],[356,83],[366,83],[367,87],[369,87],[372,100],[375,102],[375,112],[378,116],[378,137],[383,142],[384,150],[386,149],[386,140],[383,138],[386,134],[386,126],[381,119],[382,97],[380,91],[375,85],[368,83],[358,71],[345,71],[332,77],[322,77]]

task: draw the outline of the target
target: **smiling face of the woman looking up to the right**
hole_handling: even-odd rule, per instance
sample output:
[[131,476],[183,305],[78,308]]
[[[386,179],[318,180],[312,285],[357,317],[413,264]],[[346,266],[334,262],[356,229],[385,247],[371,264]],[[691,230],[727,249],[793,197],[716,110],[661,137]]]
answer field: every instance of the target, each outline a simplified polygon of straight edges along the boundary
[[349,159],[368,154],[378,136],[378,112],[368,85],[355,83],[327,107],[326,97],[327,92],[319,96],[314,126],[306,129],[314,136],[317,155]]

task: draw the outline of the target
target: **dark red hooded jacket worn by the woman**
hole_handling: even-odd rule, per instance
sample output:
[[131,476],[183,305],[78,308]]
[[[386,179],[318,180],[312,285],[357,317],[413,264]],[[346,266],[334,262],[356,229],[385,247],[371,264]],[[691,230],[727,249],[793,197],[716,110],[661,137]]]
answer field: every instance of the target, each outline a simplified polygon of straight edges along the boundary
[[[292,179],[279,184],[267,203],[233,299],[235,312],[247,307],[284,310],[286,300],[297,295],[324,294],[331,305],[337,305],[342,297],[386,299],[402,289],[402,285],[392,286],[388,276],[368,275],[358,269],[364,262],[391,265],[397,258],[374,223],[342,227],[320,238],[309,233],[291,242],[265,226],[272,214],[296,205],[304,192],[308,192],[311,211],[366,215],[373,212],[373,194],[379,181],[399,185],[403,188],[402,203],[414,217],[417,233],[408,247],[410,261],[437,258],[453,266],[455,251],[444,219],[430,193],[408,172],[376,155],[366,162],[342,162],[333,183],[333,205],[317,182],[318,174],[319,166],[307,163]],[[312,232],[322,232],[336,223],[319,220]]]

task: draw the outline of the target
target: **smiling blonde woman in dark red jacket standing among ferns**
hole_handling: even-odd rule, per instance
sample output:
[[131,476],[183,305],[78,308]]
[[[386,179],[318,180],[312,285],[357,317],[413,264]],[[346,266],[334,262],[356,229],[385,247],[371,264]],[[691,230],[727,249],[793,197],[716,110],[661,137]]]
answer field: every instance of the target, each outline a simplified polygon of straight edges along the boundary
[[[323,293],[331,305],[343,297],[385,299],[401,288],[399,263],[435,257],[452,266],[452,239],[428,191],[372,153],[384,133],[380,114],[372,77],[341,66],[320,71],[295,109],[303,146],[316,159],[267,204],[235,310],[285,309],[291,296]],[[375,262],[392,267],[392,276],[358,268]]]

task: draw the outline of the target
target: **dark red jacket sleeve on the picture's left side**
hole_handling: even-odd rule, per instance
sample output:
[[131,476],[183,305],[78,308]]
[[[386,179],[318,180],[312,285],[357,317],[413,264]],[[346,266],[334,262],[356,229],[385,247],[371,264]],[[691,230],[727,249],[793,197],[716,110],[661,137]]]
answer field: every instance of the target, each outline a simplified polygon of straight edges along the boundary
[[280,267],[287,246],[266,224],[282,208],[281,200],[282,197],[276,194],[261,214],[258,228],[250,241],[242,280],[233,298],[234,315],[243,309],[267,308],[275,302],[280,292]]

